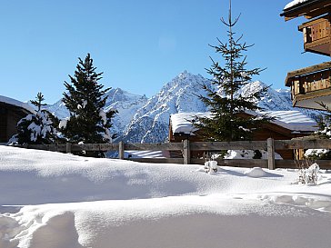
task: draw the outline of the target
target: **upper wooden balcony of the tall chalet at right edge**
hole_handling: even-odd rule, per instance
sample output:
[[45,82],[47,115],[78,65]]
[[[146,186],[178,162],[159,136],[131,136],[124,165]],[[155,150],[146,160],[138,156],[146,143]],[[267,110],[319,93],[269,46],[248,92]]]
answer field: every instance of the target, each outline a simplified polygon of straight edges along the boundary
[[306,52],[319,55],[331,55],[330,15],[319,17],[300,25],[298,28],[304,34],[304,47]]

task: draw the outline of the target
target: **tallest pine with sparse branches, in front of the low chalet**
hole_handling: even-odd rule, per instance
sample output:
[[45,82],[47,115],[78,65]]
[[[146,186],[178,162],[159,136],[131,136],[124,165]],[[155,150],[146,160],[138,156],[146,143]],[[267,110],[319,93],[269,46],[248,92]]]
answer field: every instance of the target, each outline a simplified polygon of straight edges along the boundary
[[[242,36],[235,38],[233,27],[240,15],[233,20],[231,16],[231,2],[227,22],[221,18],[221,22],[228,27],[227,43],[217,38],[218,45],[210,45],[217,54],[220,54],[224,63],[218,63],[211,58],[212,65],[206,69],[211,74],[212,87],[203,85],[206,96],[200,95],[200,99],[206,104],[211,113],[210,116],[197,117],[195,123],[204,140],[209,141],[238,141],[252,139],[252,130],[266,122],[266,116],[256,118],[256,111],[260,108],[256,104],[266,92],[266,88],[254,94],[240,94],[240,89],[249,84],[254,75],[262,69],[246,69],[246,55],[243,55],[252,45],[241,43]],[[253,115],[247,114],[251,113]]]

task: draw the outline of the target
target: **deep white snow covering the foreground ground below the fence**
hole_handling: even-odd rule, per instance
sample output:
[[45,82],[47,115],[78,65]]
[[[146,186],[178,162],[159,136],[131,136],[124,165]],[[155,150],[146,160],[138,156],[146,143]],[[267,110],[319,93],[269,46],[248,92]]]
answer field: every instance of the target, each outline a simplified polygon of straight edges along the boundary
[[0,146],[0,247],[329,248],[331,172],[297,179]]

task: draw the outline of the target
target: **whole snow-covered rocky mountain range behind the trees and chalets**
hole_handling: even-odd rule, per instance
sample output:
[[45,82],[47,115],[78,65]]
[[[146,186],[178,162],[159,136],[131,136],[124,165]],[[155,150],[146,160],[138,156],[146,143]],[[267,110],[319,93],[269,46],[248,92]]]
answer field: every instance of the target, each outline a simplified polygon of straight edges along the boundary
[[[125,142],[164,142],[168,137],[170,114],[206,112],[206,105],[199,99],[200,94],[206,94],[202,84],[211,87],[209,80],[202,75],[184,71],[149,99],[145,95],[130,94],[119,88],[111,89],[106,94],[105,110],[118,111],[113,131]],[[266,84],[259,81],[246,84],[240,94],[260,91],[263,87]],[[269,87],[258,105],[265,110],[294,110],[289,89]],[[49,110],[60,118],[69,115],[61,101],[50,105]],[[301,111],[308,115],[316,114],[314,111]]]

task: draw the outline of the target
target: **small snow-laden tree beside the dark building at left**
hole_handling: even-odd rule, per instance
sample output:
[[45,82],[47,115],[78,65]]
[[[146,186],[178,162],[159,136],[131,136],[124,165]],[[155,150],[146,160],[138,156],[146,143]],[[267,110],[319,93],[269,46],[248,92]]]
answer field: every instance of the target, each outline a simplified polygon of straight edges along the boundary
[[55,144],[57,122],[55,116],[42,107],[45,105],[44,95],[38,93],[34,101],[35,114],[28,114],[17,123],[17,134],[13,135],[8,144]]

